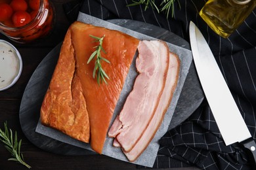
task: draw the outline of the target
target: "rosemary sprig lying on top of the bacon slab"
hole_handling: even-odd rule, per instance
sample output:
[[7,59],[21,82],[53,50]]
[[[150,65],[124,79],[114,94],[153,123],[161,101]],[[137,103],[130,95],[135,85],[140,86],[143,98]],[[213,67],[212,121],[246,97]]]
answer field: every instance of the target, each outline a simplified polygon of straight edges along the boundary
[[[94,48],[96,48],[95,52],[93,52],[90,56],[90,58],[87,61],[87,64],[91,62],[92,59],[95,58],[95,68],[93,69],[93,78],[95,78],[95,75],[97,75],[97,82],[98,84],[102,83],[103,81],[108,84],[106,82],[106,78],[108,78],[108,80],[110,79],[108,77],[108,75],[106,74],[106,72],[104,71],[104,69],[102,69],[102,65],[101,65],[101,61],[106,61],[107,63],[110,63],[110,61],[108,61],[108,59],[106,58],[102,58],[101,56],[101,51],[104,52],[106,54],[106,51],[104,50],[104,48],[102,47],[102,43],[103,43],[103,39],[105,37],[105,35],[103,35],[103,37],[95,37],[93,35],[90,35],[90,37],[92,37],[93,39],[95,39],[95,41],[93,42],[99,42],[98,46],[95,46]],[[98,73],[96,73],[96,71],[98,71]]]

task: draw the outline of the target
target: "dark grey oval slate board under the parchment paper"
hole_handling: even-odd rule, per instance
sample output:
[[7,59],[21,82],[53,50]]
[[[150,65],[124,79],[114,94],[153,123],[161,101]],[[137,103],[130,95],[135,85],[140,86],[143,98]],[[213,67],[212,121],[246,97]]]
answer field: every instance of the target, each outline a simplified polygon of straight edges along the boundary
[[[188,50],[190,49],[190,45],[188,42],[184,41],[184,39],[181,39],[181,37],[178,37],[165,29],[156,27],[155,25],[145,24],[133,20],[110,20],[110,22],[145,35],[149,35],[156,39],[161,39],[163,41],[170,42],[171,44],[182,46]],[[47,91],[51,76],[58,60],[60,46],[61,43],[58,44],[58,46],[56,46],[45,57],[45,59],[43,59],[43,61],[41,61],[26,86],[24,95],[22,97],[22,102],[20,104],[20,124],[22,131],[28,140],[35,144],[35,146],[48,152],[77,156],[95,154],[95,152],[62,143],[45,135],[35,133],[35,128],[37,127],[37,122],[40,116],[39,112],[41,103],[43,102],[43,97]],[[181,124],[181,122],[188,118],[188,116],[194,112],[200,103],[202,103],[202,100],[202,88],[200,86],[198,76],[196,75],[194,63],[192,63],[186,81],[184,82],[184,86],[182,88],[182,92],[169,129]]]

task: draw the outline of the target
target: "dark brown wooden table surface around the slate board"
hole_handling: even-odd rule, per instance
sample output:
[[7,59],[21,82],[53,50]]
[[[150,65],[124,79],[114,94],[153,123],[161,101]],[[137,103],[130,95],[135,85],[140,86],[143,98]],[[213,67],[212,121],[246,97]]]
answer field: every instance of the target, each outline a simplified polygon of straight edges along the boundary
[[[45,152],[30,143],[23,134],[20,126],[19,110],[28,80],[30,80],[33,71],[35,71],[42,59],[64,39],[64,35],[71,24],[62,9],[62,4],[69,0],[52,1],[56,10],[56,25],[53,33],[43,41],[31,44],[17,44],[0,34],[0,39],[9,41],[18,48],[24,63],[22,75],[18,82],[8,90],[0,92],[0,128],[3,129],[3,124],[7,121],[9,128],[12,131],[17,131],[18,139],[22,139],[21,151],[24,160],[32,166],[32,169],[136,169],[136,165],[133,163],[119,161],[103,155],[62,156]],[[26,169],[20,163],[8,161],[9,158],[11,158],[11,155],[1,143],[0,169]]]

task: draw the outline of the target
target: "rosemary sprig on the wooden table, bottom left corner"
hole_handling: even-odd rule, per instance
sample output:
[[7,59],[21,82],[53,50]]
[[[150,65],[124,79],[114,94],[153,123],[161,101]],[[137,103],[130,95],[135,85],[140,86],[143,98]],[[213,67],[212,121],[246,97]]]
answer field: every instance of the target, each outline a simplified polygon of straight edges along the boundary
[[4,123],[5,131],[0,129],[0,141],[5,144],[5,148],[11,153],[11,156],[13,158],[9,158],[10,161],[18,161],[22,165],[25,165],[28,168],[31,168],[30,165],[28,165],[23,158],[23,155],[20,153],[20,146],[22,143],[22,140],[18,142],[17,139],[17,132],[15,131],[14,139],[12,137],[12,130],[10,129],[10,133],[7,128],[7,122]]

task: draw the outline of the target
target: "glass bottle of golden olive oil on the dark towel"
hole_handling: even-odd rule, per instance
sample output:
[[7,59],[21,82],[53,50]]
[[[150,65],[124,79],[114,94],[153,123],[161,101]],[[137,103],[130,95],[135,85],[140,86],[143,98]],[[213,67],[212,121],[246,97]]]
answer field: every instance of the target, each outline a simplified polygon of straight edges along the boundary
[[199,14],[215,33],[227,38],[255,7],[256,0],[208,0]]

